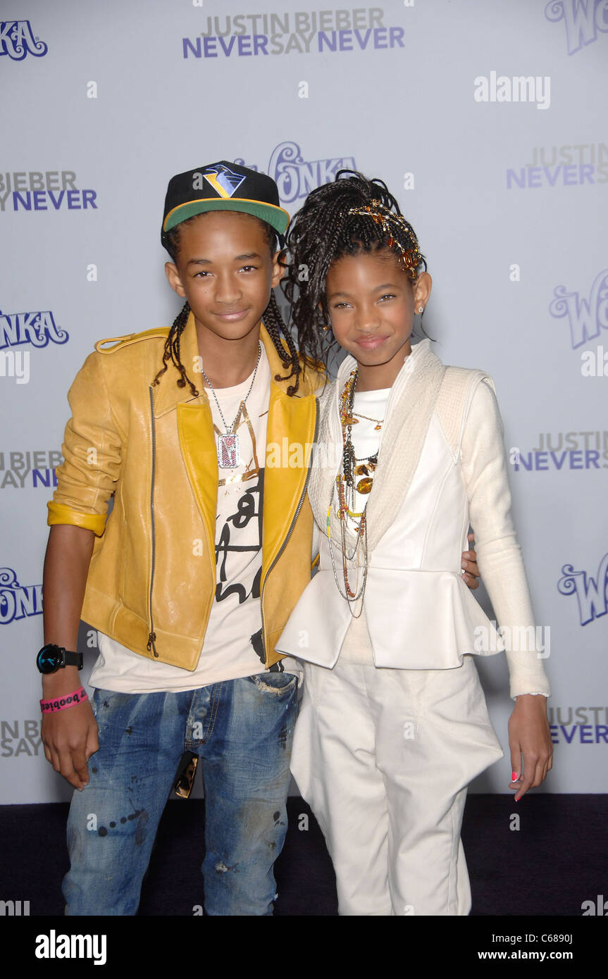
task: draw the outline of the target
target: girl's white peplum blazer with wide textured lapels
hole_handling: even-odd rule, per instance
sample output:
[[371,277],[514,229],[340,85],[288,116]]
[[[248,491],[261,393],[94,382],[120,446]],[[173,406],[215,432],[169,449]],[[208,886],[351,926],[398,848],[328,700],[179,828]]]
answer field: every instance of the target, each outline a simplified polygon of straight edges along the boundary
[[[343,361],[337,381],[322,398],[321,441],[313,466],[324,467],[326,472],[311,478],[308,489],[321,531],[319,570],[276,646],[282,653],[328,668],[337,662],[351,625],[351,608],[334,578],[326,515],[336,474],[336,450],[342,447],[339,398],[354,364],[352,357]],[[457,369],[456,373],[461,392],[457,409],[453,396],[443,396],[444,366],[425,340],[405,358],[389,397],[367,507],[363,605],[373,660],[377,667],[444,670],[460,666],[464,654],[492,655],[506,649],[511,696],[548,695],[511,519],[503,429],[493,382],[480,371]],[[429,400],[426,408],[425,397]],[[417,454],[414,447],[408,458],[416,433],[420,445]],[[333,452],[327,451],[328,441]],[[399,499],[403,488],[404,498]],[[387,509],[395,512],[383,531]],[[504,641],[462,581],[461,552],[468,548],[469,524]],[[331,546],[344,591],[338,527],[334,516]],[[378,538],[374,529],[379,528]],[[354,567],[349,578],[356,582]],[[358,607],[359,603],[353,611]]]

